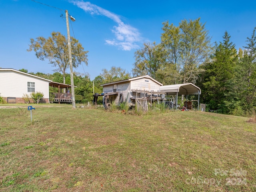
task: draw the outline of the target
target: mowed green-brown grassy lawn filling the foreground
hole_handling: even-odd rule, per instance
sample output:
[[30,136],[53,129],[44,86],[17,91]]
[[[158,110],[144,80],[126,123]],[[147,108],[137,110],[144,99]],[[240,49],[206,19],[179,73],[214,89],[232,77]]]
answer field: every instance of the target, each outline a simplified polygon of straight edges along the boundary
[[0,191],[256,191],[256,124],[175,111],[0,109]]

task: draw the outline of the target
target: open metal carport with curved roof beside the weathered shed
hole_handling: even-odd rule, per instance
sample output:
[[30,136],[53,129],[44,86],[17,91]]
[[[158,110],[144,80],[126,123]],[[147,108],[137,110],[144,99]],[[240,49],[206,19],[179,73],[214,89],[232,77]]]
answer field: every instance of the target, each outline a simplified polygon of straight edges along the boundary
[[178,95],[186,95],[188,100],[188,95],[198,95],[198,110],[199,110],[199,98],[201,94],[201,89],[192,83],[176,84],[176,85],[164,85],[160,86],[160,92],[170,95],[176,95],[176,110],[178,109]]

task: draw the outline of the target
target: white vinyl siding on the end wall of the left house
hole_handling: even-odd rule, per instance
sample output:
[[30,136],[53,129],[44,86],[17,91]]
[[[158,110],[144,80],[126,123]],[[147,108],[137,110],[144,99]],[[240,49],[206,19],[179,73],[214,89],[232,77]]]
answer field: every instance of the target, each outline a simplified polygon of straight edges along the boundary
[[28,92],[28,82],[35,83],[35,92],[42,92],[44,98],[49,98],[49,81],[42,78],[16,72],[15,70],[0,70],[0,93],[2,97],[22,98]]

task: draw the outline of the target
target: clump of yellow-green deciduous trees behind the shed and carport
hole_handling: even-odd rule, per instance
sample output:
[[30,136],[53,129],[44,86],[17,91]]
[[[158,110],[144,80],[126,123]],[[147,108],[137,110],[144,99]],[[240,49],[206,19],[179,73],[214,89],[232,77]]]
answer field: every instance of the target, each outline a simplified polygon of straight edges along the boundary
[[196,83],[212,54],[211,38],[200,18],[182,20],[179,26],[166,21],[161,43],[144,43],[135,52],[133,75],[148,74],[163,84]]

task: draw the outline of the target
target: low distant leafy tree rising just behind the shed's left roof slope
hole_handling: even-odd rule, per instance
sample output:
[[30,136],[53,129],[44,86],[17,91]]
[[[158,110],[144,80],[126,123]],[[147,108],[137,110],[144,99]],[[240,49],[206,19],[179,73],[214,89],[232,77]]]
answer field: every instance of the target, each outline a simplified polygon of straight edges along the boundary
[[100,76],[103,77],[104,82],[114,82],[119,80],[124,80],[130,78],[130,73],[126,72],[125,69],[120,67],[112,66],[111,69],[108,71],[107,69],[102,69],[102,73]]

